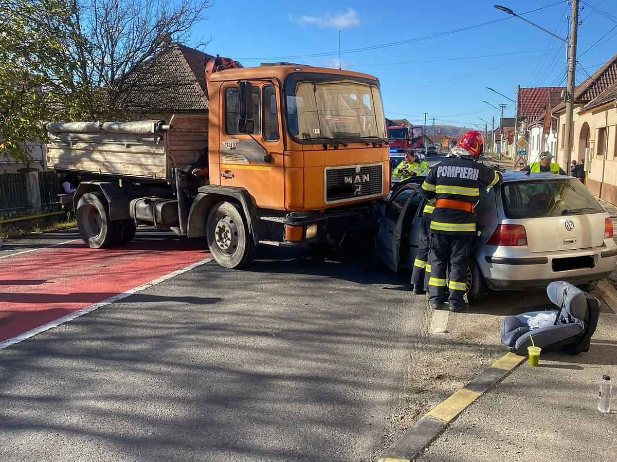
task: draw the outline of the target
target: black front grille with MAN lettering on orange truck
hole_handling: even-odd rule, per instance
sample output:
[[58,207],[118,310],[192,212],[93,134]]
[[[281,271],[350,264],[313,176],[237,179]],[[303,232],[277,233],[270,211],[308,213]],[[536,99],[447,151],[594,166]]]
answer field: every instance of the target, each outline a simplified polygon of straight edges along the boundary
[[382,165],[326,167],[326,204],[381,194]]

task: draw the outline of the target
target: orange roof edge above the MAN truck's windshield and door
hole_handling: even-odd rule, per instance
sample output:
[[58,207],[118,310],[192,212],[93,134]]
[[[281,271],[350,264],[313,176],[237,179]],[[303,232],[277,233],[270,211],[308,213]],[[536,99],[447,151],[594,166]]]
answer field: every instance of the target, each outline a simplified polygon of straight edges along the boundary
[[274,63],[271,65],[262,65],[257,67],[241,67],[233,69],[225,69],[212,74],[210,81],[224,81],[224,80],[242,80],[253,78],[268,78],[276,77],[283,81],[284,78],[292,72],[318,72],[333,75],[346,75],[350,77],[360,77],[368,80],[379,81],[373,75],[365,74],[362,72],[354,72],[344,69],[333,69],[327,67],[314,67],[307,64],[289,64],[289,63]]

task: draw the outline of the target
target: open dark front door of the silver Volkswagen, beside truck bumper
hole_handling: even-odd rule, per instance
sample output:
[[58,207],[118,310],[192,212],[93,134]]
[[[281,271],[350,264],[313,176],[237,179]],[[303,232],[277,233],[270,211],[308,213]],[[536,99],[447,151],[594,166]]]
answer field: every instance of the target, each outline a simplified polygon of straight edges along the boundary
[[[411,220],[415,217],[416,208],[423,198],[418,186],[417,183],[407,183],[401,186],[386,204],[381,206],[379,213],[379,232],[375,250],[384,264],[394,272],[400,269],[401,238],[404,235],[408,236],[407,231],[412,228]],[[407,241],[405,247],[407,247]],[[405,255],[407,255],[407,249],[405,249]]]

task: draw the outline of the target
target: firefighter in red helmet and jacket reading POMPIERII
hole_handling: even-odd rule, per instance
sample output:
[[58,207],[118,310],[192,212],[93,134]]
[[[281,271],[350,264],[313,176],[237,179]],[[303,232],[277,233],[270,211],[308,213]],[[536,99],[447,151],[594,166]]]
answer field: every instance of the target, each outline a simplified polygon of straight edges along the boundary
[[468,131],[452,149],[452,155],[431,168],[422,184],[424,195],[437,199],[429,228],[431,277],[428,286],[433,308],[439,309],[445,302],[446,288],[450,291],[450,311],[465,307],[467,264],[476,236],[474,204],[480,197],[480,188],[491,188],[502,179],[497,171],[476,162],[483,149],[484,139],[480,132]]

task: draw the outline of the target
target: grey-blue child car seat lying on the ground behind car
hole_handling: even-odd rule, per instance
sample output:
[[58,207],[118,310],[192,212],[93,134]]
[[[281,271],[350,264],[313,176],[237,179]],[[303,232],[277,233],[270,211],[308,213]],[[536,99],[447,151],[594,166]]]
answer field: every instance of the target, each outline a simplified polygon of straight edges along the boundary
[[[531,311],[518,316],[504,318],[501,339],[508,350],[527,355],[533,336],[536,347],[543,351],[561,350],[571,355],[589,351],[591,336],[594,335],[600,317],[600,302],[566,281],[550,283],[546,288],[549,300],[559,310]],[[539,313],[554,313],[552,326],[531,329],[529,320]]]

